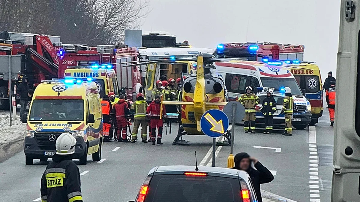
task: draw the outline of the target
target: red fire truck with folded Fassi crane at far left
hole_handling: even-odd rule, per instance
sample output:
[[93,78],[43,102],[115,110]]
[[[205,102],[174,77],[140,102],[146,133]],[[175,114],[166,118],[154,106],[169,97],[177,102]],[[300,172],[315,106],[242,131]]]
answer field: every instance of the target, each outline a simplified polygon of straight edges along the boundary
[[[59,58],[53,45],[59,45],[59,40],[58,36],[4,31],[0,33],[0,55],[21,55],[18,79],[21,82],[21,78],[26,76],[28,84],[35,87],[41,80],[58,77]],[[12,84],[12,89],[16,89],[16,84]],[[0,110],[9,108],[9,96],[14,92],[9,92],[8,81],[0,75]]]

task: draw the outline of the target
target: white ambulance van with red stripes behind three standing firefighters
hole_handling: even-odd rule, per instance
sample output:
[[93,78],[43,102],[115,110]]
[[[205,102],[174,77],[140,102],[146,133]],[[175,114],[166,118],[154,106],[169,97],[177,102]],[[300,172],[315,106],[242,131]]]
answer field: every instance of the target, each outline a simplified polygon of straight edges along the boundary
[[[277,64],[277,65],[275,65]],[[229,100],[245,93],[245,88],[251,86],[255,91],[257,87],[281,88],[290,87],[294,98],[293,126],[303,129],[311,121],[310,102],[303,95],[294,76],[287,66],[281,63],[260,63],[256,61],[229,60],[218,61],[213,64],[215,73],[222,75],[228,91]],[[278,117],[279,116],[279,117]],[[279,114],[275,119],[284,123],[284,116]],[[264,123],[264,116],[256,114],[256,123]]]

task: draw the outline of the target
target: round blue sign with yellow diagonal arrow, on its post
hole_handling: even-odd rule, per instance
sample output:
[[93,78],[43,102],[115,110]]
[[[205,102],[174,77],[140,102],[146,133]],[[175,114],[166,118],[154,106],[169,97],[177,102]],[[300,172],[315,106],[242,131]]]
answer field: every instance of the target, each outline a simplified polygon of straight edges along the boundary
[[226,133],[229,128],[229,118],[218,109],[206,111],[200,120],[201,130],[204,134],[212,137],[212,166],[215,166],[216,138]]

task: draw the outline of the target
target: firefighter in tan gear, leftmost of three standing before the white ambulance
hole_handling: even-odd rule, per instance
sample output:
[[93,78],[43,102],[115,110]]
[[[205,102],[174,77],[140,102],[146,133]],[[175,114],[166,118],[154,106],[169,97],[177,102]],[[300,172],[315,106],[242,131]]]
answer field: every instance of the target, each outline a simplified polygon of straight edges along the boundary
[[259,104],[260,98],[252,92],[251,86],[246,87],[245,91],[246,93],[238,98],[245,108],[244,130],[245,133],[255,133],[255,106]]

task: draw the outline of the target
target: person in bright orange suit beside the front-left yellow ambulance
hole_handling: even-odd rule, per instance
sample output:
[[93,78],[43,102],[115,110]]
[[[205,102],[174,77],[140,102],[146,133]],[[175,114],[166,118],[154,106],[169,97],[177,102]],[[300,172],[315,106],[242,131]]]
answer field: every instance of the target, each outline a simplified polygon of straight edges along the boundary
[[103,100],[101,103],[101,109],[103,113],[103,136],[104,136],[104,142],[111,142],[111,139],[109,138],[109,132],[111,127],[111,118],[110,118],[110,112],[112,111],[112,105],[111,101],[109,100],[108,95],[103,96]]

